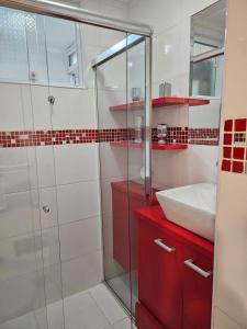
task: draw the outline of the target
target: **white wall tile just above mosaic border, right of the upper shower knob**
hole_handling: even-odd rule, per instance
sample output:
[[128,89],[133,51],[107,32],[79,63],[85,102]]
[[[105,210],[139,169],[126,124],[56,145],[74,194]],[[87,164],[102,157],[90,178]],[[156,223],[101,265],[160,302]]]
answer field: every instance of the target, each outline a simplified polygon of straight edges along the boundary
[[55,97],[54,129],[96,128],[96,101],[92,89],[50,88]]

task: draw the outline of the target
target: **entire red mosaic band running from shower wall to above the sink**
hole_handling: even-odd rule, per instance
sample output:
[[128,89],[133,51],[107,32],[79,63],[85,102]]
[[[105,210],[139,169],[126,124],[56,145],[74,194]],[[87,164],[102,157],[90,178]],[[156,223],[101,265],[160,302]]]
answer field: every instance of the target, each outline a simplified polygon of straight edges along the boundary
[[[218,129],[189,129],[168,127],[168,144],[217,145]],[[153,141],[157,141],[157,129],[153,128]],[[242,133],[239,133],[242,134]],[[63,144],[86,144],[132,140],[135,131],[123,129],[66,129],[66,131],[23,131],[0,132],[0,147],[27,147]],[[215,139],[213,139],[215,138]],[[238,136],[242,139],[242,135]]]

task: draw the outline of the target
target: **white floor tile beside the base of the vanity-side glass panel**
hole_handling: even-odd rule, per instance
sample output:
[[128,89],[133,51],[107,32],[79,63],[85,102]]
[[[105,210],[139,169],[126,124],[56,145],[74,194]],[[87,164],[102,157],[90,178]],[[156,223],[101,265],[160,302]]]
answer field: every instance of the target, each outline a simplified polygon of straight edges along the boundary
[[127,317],[122,306],[114,298],[110,290],[104,284],[99,284],[91,290],[89,293],[101,308],[110,324],[115,324]]

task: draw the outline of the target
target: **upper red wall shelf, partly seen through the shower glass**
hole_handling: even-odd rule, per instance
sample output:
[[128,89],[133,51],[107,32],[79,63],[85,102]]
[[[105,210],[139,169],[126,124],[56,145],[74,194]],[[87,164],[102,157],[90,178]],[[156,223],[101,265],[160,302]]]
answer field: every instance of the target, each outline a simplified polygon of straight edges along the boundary
[[[153,99],[153,109],[159,109],[164,106],[171,105],[186,105],[189,106],[198,106],[198,105],[206,105],[210,103],[209,100],[203,99],[192,99],[192,98],[158,98]],[[110,106],[111,111],[124,111],[124,110],[141,110],[144,107],[144,102],[133,102],[128,104],[121,104],[115,106]]]

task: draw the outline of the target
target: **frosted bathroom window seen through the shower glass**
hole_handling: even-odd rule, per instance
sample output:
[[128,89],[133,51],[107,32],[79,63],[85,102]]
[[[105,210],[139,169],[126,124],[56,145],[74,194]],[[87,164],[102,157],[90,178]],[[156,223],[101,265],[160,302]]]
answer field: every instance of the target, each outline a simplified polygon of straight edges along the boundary
[[82,86],[77,23],[0,8],[0,81]]

